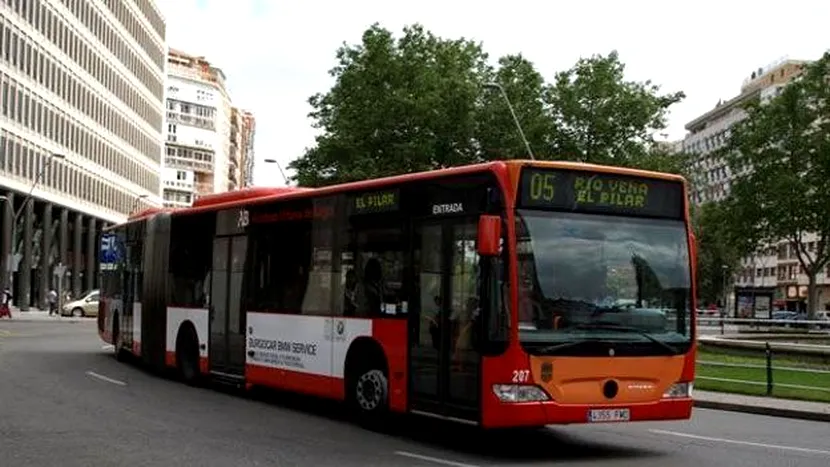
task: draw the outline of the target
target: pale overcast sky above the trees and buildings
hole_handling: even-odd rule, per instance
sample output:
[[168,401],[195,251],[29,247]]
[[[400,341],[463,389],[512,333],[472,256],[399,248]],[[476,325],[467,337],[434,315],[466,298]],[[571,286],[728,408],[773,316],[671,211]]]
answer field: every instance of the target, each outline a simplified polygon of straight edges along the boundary
[[373,23],[400,33],[420,23],[445,38],[482,42],[495,60],[522,53],[546,79],[580,57],[617,50],[628,79],[684,91],[667,138],[740,92],[753,70],[781,58],[816,59],[830,48],[830,2],[698,0],[156,0],[170,47],[222,68],[235,106],[253,112],[256,185],[284,181],[275,164],[314,145],[308,97],[333,84],[328,71],[343,42]]

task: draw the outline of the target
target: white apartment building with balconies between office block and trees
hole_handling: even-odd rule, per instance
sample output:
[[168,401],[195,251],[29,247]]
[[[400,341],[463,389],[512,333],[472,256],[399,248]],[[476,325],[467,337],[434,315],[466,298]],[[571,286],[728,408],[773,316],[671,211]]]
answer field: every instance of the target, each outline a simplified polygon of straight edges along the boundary
[[222,70],[204,57],[168,52],[163,198],[189,206],[243,185],[245,115],[231,105]]

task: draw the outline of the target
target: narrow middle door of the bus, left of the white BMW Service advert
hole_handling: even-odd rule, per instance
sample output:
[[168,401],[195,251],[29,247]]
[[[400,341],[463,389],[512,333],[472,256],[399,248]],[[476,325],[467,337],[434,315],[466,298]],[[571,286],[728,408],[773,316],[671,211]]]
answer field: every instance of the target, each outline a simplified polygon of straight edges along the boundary
[[245,313],[242,275],[247,237],[218,237],[213,242],[210,287],[210,371],[220,377],[245,374]]

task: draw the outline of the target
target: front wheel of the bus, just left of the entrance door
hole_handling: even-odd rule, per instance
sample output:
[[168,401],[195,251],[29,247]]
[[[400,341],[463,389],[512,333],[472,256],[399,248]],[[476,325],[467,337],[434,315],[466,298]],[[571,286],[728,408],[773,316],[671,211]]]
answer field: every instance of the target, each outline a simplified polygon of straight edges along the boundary
[[377,425],[386,416],[389,405],[389,379],[379,365],[356,369],[349,390],[349,402],[361,423]]

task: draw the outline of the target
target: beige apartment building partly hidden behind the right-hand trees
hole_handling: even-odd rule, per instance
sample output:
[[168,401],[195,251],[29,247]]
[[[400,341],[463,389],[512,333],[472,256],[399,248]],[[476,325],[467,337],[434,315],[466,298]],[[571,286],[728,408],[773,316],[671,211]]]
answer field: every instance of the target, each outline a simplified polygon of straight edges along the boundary
[[[733,174],[726,162],[715,156],[714,151],[726,144],[730,128],[746,117],[742,106],[751,100],[765,101],[781,92],[791,80],[801,74],[805,61],[779,60],[760,68],[744,81],[740,93],[726,102],[718,102],[714,109],[686,125],[688,135],[682,150],[694,155],[693,173],[697,175],[691,193],[693,202],[720,201],[729,193]],[[807,247],[815,248],[815,239],[807,239]],[[803,309],[807,296],[807,277],[801,268],[795,250],[786,241],[770,245],[765,251],[745,258],[743,268],[735,278],[738,308],[753,297],[771,297],[775,307]],[[830,267],[819,274],[820,308],[830,303]],[[766,300],[766,299],[765,299]],[[748,302],[746,302],[748,303]],[[756,310],[759,308],[756,302]],[[759,311],[758,315],[764,315]]]

